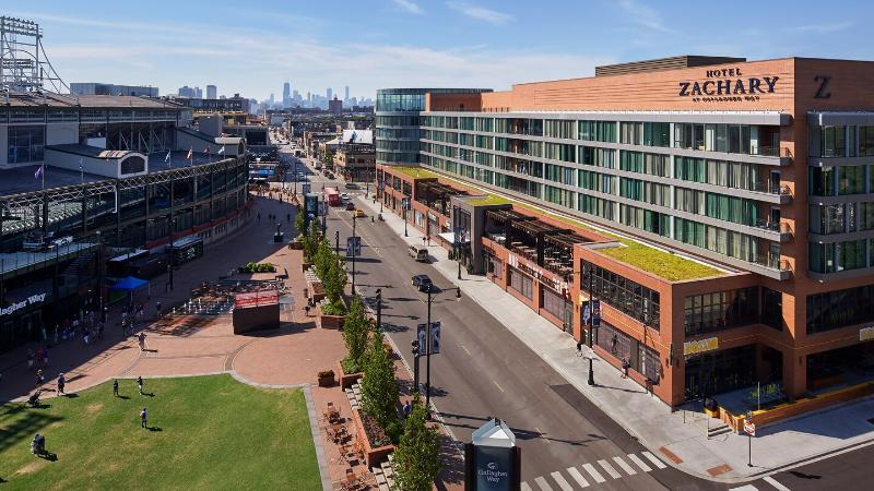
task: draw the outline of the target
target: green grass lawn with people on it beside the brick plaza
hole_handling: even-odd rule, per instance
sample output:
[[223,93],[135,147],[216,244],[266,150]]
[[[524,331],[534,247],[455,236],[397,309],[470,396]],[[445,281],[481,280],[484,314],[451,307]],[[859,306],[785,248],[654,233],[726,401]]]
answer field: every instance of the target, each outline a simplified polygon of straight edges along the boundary
[[[299,390],[211,375],[146,380],[149,397],[119,383],[129,398],[106,383],[44,408],[0,406],[0,488],[321,489]],[[57,460],[31,454],[35,432]]]

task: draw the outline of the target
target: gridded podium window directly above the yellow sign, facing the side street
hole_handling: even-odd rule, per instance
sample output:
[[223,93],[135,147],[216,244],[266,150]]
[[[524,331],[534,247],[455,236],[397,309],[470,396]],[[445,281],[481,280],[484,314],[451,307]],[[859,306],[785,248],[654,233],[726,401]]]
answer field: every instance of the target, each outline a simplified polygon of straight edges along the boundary
[[685,298],[686,336],[752,324],[758,318],[758,288],[693,295]]

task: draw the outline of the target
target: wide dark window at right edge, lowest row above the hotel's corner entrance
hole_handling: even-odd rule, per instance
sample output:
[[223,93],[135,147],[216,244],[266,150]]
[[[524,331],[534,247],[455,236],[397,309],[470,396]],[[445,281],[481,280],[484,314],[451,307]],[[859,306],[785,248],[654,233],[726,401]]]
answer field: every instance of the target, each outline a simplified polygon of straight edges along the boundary
[[874,321],[874,286],[808,295],[807,334]]

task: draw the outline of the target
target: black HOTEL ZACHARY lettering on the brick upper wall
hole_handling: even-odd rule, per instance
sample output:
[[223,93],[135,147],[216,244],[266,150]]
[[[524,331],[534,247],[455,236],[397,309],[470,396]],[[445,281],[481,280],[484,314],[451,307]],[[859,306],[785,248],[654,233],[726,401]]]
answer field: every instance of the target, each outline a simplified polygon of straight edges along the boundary
[[740,68],[706,70],[701,80],[680,82],[680,97],[693,103],[743,103],[773,94],[779,76],[745,76]]

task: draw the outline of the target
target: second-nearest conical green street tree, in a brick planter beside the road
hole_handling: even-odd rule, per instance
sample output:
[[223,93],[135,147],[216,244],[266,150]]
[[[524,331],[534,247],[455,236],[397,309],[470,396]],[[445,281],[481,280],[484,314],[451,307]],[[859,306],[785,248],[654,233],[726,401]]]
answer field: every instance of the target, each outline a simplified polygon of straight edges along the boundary
[[389,427],[398,424],[397,404],[401,390],[394,379],[394,362],[382,340],[382,332],[375,330],[365,351],[362,410],[373,416],[388,433]]

